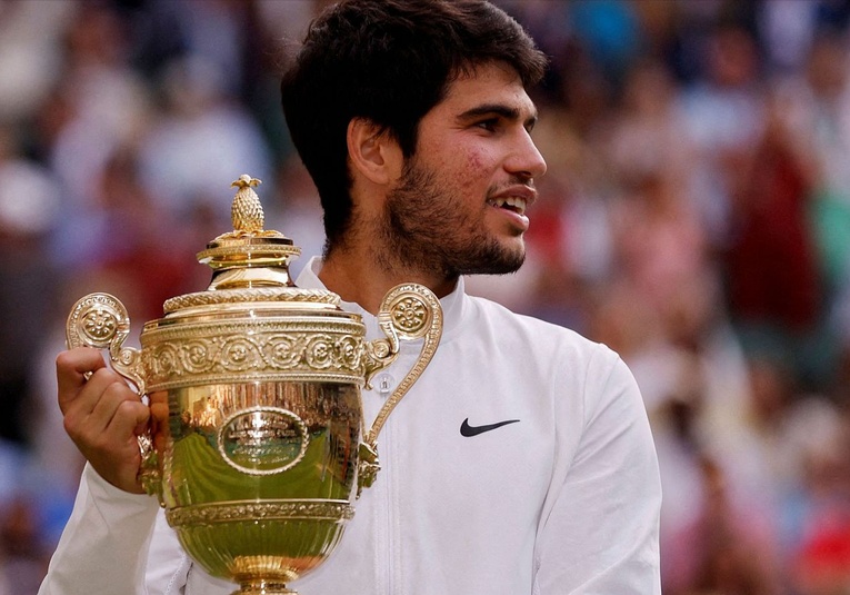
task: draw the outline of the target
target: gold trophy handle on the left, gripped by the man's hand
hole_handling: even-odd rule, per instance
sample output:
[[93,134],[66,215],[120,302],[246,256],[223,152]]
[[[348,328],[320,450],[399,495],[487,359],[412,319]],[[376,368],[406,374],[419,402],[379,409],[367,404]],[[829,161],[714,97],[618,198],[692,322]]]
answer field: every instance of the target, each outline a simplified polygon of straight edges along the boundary
[[[123,347],[129,334],[130,317],[127,308],[121,300],[109,294],[89,294],[80,298],[71,308],[66,324],[69,349],[93,347],[109,350],[112,369],[136,385],[139,396],[144,396],[141,351]],[[159,485],[159,466],[150,428],[137,438],[141,453],[139,476],[142,487],[148,494],[154,494]]]

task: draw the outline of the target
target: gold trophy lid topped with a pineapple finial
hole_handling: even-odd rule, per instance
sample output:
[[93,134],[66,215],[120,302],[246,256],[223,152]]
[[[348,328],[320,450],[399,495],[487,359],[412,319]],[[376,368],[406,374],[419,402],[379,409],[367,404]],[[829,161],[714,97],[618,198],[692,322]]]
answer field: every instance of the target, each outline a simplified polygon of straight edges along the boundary
[[198,252],[198,261],[212,268],[210,286],[206,291],[166,300],[167,315],[242,303],[338,309],[339,296],[326,289],[300,289],[290,277],[289,261],[301,254],[301,248],[280,231],[263,229],[262,205],[253,190],[260,184],[247,173],[233,181],[233,231],[220,235]]

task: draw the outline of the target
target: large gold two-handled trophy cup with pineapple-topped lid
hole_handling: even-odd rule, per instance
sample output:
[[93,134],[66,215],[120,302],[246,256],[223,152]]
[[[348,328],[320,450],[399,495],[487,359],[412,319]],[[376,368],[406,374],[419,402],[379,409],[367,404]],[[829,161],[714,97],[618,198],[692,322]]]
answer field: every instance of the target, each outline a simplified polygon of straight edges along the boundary
[[[286,584],[331,553],[354,488],[379,469],[381,426],[442,331],[440,303],[420,285],[387,294],[384,338],[372,341],[339,296],[296,287],[288,264],[300,248],[263,230],[257,184],[233,182],[234,230],[198,255],[213,269],[209,288],[167,300],[141,349],[122,346],[129,318],[108,294],[80,299],[67,326],[69,347],[108,349],[113,369],[149,396],[142,485],[189,555],[241,585],[233,595],[293,594]],[[422,341],[419,359],[367,430],[360,387],[406,340]]]

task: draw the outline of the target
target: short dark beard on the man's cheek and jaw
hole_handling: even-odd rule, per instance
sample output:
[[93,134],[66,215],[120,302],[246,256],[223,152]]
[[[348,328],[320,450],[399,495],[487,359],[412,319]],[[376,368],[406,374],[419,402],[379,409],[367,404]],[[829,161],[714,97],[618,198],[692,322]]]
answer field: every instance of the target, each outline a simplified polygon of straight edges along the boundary
[[[524,246],[501,242],[483,226],[486,210],[464,210],[464,198],[432,171],[406,168],[401,184],[387,197],[378,235],[378,264],[390,271],[439,271],[447,279],[461,275],[506,275],[526,259]],[[479,212],[479,217],[474,217]]]

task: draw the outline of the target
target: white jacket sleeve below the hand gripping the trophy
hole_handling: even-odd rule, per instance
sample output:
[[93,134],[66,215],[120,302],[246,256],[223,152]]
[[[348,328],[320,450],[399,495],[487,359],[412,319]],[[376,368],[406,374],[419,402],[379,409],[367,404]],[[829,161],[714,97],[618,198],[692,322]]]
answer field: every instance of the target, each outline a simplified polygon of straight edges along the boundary
[[102,479],[88,464],[39,595],[147,595],[148,548],[159,505]]

